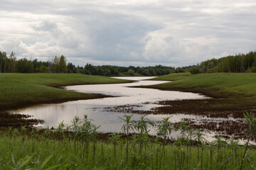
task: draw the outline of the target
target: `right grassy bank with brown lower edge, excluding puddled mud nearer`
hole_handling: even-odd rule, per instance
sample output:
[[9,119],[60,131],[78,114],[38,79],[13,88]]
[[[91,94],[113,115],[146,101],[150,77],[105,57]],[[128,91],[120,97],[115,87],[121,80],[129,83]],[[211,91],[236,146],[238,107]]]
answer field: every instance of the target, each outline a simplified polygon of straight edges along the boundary
[[255,110],[256,74],[168,74],[154,80],[171,81],[166,84],[145,86],[161,90],[194,92],[209,96],[204,100],[162,101],[170,107],[158,108],[159,113],[195,113],[216,117],[243,118],[242,113]]

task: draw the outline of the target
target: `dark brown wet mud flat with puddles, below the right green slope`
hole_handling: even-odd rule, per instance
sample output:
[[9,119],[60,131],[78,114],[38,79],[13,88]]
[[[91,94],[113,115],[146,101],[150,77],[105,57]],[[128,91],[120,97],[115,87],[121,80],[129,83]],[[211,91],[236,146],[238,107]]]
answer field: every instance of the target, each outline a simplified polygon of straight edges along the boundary
[[[104,111],[116,113],[134,113],[146,115],[181,115],[188,128],[201,130],[205,134],[221,135],[225,138],[234,137],[244,140],[247,138],[248,126],[244,120],[244,113],[255,111],[255,107],[229,107],[225,98],[207,98],[201,100],[158,101],[143,103],[143,105],[124,105],[105,108]],[[148,110],[145,110],[145,106]],[[175,126],[181,123],[175,122]],[[158,123],[155,121],[154,123]],[[253,139],[256,141],[256,139]]]

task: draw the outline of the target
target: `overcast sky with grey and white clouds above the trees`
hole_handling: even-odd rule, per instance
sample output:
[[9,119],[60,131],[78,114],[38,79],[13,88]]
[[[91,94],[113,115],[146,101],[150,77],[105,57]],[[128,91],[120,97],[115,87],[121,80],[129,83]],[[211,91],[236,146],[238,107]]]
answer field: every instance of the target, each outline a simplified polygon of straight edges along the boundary
[[0,51],[182,67],[256,49],[255,0],[0,0]]

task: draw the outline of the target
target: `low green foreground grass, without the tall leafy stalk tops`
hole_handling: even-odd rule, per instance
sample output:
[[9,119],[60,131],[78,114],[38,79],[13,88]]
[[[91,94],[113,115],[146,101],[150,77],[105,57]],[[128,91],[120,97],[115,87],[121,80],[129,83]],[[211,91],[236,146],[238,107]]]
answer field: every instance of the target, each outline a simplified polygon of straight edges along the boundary
[[139,137],[142,136],[139,135],[129,137],[127,148],[124,138],[117,140],[114,147],[112,142],[95,140],[91,134],[88,135],[86,149],[85,133],[80,133],[74,138],[73,133],[63,133],[63,129],[28,131],[20,128],[1,132],[0,169],[19,169],[18,166],[22,164],[20,169],[36,169],[37,166],[43,167],[41,169],[256,168],[256,150],[253,147],[247,149],[244,157],[244,146],[223,139],[218,140],[220,142],[216,140],[214,144],[202,141],[201,145],[174,140],[173,144],[165,145],[163,152],[162,141],[153,138],[144,143],[140,150]]

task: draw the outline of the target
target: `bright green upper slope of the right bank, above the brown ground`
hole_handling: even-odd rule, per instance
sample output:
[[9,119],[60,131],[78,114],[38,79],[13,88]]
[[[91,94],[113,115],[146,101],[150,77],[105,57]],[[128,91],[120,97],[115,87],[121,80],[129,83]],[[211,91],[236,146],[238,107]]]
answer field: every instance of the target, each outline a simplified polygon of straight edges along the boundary
[[256,99],[256,74],[216,73],[216,74],[168,74],[154,80],[173,81],[155,85],[158,89],[181,89],[197,91],[208,96],[244,96]]

